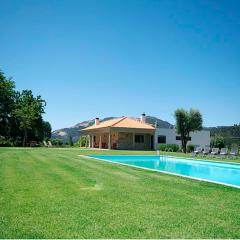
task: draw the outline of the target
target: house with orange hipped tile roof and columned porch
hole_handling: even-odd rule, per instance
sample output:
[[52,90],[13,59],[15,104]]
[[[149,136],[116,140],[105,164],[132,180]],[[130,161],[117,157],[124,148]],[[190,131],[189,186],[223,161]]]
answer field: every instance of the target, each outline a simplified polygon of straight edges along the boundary
[[155,128],[141,121],[127,117],[99,122],[81,130],[89,138],[89,148],[150,150],[154,147]]

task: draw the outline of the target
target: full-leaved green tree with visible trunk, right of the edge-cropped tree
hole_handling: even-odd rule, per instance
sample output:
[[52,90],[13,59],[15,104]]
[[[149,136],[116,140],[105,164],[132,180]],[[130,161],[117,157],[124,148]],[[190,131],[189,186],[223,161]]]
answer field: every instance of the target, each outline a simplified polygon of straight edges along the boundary
[[20,129],[23,131],[23,146],[27,145],[28,133],[34,128],[37,120],[42,118],[46,102],[41,96],[34,97],[32,91],[23,90],[17,94],[13,114],[20,122]]

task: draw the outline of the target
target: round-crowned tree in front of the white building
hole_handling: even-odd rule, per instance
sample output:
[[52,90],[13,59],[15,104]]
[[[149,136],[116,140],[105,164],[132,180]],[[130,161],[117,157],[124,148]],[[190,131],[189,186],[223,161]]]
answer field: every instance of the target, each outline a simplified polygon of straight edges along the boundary
[[187,152],[187,142],[189,141],[190,132],[202,129],[202,115],[198,110],[177,109],[175,111],[176,130],[181,136],[181,143],[184,153]]

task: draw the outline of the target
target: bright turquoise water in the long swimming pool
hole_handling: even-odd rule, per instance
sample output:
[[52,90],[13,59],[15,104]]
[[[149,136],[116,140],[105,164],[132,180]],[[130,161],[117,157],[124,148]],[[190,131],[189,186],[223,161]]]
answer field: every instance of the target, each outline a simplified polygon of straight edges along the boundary
[[240,188],[240,164],[168,156],[89,156]]

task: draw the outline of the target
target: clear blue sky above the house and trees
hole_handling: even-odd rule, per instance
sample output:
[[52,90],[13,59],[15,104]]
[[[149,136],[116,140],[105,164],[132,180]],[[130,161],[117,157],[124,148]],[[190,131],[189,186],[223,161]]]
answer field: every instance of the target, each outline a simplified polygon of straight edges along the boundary
[[53,129],[198,108],[240,122],[240,1],[0,0],[0,68]]

